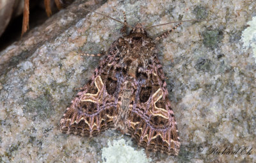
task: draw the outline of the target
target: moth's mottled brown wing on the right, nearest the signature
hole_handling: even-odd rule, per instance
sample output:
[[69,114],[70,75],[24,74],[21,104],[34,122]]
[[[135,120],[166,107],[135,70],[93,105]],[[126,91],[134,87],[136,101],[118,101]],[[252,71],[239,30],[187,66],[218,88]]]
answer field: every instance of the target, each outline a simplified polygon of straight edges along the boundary
[[179,133],[157,56],[147,70],[137,72],[137,77],[126,122],[129,134],[147,150],[177,155]]

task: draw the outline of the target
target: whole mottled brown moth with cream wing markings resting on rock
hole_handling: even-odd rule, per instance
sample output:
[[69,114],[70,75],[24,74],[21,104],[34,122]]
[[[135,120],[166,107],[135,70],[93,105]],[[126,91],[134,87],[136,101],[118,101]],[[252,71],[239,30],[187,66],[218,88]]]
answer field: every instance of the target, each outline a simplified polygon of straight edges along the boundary
[[179,132],[155,42],[182,22],[154,39],[140,23],[125,33],[131,27],[125,13],[121,23],[124,36],[113,42],[90,81],[72,100],[61,118],[61,132],[92,137],[115,128],[146,150],[178,155]]

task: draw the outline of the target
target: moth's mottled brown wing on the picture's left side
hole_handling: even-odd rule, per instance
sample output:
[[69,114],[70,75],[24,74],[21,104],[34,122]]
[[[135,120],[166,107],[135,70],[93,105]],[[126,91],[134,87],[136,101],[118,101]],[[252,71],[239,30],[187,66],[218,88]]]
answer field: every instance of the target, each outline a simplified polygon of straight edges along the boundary
[[108,54],[63,114],[61,132],[92,137],[114,127],[118,115],[116,99],[120,88],[117,79],[109,75],[113,74],[116,49],[109,49]]

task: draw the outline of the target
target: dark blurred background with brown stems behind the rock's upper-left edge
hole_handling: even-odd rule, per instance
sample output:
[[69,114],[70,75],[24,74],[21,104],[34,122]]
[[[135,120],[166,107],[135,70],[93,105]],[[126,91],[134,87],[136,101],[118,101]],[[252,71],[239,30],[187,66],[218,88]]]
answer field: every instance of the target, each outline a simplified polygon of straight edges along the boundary
[[[0,51],[20,39],[26,3],[29,3],[27,24],[29,29],[32,29],[72,1],[74,0],[0,0]],[[23,26],[26,24],[23,23]],[[26,31],[23,32],[26,33]]]

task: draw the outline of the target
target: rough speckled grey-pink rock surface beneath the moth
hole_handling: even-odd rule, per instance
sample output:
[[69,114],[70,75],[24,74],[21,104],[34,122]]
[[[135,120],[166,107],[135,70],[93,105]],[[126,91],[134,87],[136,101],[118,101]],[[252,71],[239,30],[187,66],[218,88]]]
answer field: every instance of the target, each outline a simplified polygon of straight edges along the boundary
[[[88,81],[100,60],[80,53],[106,51],[121,36],[122,24],[87,14],[77,8],[79,3],[0,53],[0,162],[101,162],[102,148],[109,140],[131,139],[113,130],[92,138],[59,131],[60,118],[77,93],[75,88]],[[124,10],[131,26],[205,19],[184,23],[157,45],[181,148],[177,157],[146,152],[148,160],[256,162],[256,63],[252,49],[243,52],[240,41],[246,22],[256,15],[256,2],[102,3],[88,1],[86,6],[119,20]],[[155,27],[148,33],[154,37],[173,25]],[[131,146],[141,150],[136,143]],[[211,153],[214,146],[220,153]],[[244,146],[252,150],[246,154]],[[231,154],[228,150],[239,151]]]

